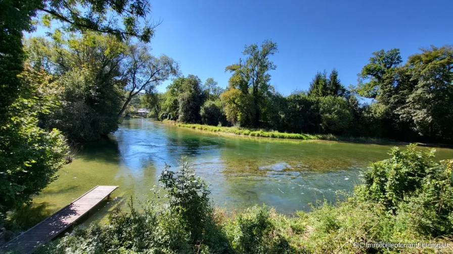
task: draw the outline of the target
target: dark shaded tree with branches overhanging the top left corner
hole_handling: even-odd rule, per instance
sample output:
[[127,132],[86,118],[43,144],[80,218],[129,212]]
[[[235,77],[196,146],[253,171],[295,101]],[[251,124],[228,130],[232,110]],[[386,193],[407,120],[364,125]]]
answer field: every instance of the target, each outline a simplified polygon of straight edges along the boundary
[[[80,7],[85,11],[80,11]],[[38,13],[43,14],[42,24],[50,26],[52,20],[61,21],[65,32],[97,31],[121,39],[138,37],[145,42],[150,41],[158,25],[145,22],[141,26],[139,19],[146,18],[150,6],[139,0],[5,0],[0,9],[0,122],[26,85],[17,78],[25,60],[22,32],[35,29],[32,19]],[[118,17],[122,22],[118,22]]]

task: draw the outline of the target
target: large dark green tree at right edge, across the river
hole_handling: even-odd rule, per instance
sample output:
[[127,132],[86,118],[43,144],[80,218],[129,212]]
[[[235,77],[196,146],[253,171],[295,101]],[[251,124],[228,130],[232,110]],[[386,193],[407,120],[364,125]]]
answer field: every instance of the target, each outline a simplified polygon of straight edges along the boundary
[[405,87],[409,91],[397,113],[422,136],[453,139],[453,46],[422,49],[409,57],[406,68],[416,83]]

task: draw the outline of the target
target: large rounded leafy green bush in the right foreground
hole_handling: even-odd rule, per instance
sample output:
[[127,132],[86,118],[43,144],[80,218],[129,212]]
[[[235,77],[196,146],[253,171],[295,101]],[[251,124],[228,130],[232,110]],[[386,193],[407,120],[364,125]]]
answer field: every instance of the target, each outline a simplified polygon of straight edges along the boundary
[[416,145],[403,151],[393,148],[390,159],[373,163],[365,172],[358,197],[382,205],[396,214],[400,226],[420,234],[453,233],[453,162],[434,162],[434,153],[419,151]]

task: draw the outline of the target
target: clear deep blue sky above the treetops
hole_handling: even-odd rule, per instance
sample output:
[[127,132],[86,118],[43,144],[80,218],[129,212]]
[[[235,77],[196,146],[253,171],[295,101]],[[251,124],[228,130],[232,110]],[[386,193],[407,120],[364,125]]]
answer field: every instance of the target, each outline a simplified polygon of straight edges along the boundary
[[[344,86],[373,51],[453,43],[451,0],[431,1],[151,1],[150,18],[163,22],[151,45],[180,63],[184,75],[212,77],[226,87],[226,66],[242,57],[244,45],[277,42],[271,84],[288,95],[308,89],[317,71],[336,68]],[[168,84],[168,82],[167,82]],[[158,88],[165,91],[165,84]]]

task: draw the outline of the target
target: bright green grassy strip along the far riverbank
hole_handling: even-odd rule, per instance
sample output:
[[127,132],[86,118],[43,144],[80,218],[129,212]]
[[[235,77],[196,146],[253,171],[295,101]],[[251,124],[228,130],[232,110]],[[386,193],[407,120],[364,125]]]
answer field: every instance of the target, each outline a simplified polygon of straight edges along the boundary
[[226,126],[212,126],[206,124],[192,124],[192,123],[179,123],[170,122],[178,127],[202,130],[208,132],[243,135],[249,137],[263,137],[263,138],[276,138],[276,139],[294,139],[294,140],[331,140],[331,141],[345,141],[356,143],[373,143],[373,144],[407,144],[402,142],[395,142],[388,139],[369,138],[369,137],[352,137],[352,136],[338,136],[333,134],[298,134],[298,133],[281,133],[279,131],[266,131],[263,129],[247,129],[242,127],[226,127]]

